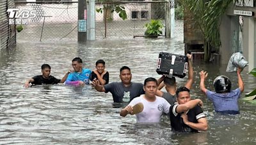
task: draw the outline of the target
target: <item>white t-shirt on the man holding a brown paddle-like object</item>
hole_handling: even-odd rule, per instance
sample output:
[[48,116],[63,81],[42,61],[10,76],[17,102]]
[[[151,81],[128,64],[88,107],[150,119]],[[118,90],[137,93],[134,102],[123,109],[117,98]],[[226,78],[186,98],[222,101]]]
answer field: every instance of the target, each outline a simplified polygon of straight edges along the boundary
[[136,97],[129,103],[131,106],[134,106],[139,102],[143,103],[143,111],[136,114],[137,123],[159,123],[162,114],[169,113],[171,105],[162,97],[156,96],[154,102],[148,102],[143,96],[144,95]]

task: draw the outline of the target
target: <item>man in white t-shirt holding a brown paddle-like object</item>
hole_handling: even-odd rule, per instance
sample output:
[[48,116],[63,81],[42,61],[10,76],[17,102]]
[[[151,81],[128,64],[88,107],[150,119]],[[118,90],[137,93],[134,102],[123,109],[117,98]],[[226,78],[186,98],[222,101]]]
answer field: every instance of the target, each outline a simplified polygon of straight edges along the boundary
[[132,107],[141,102],[143,104],[143,111],[136,114],[137,122],[159,123],[163,113],[169,113],[170,104],[162,97],[156,96],[157,80],[155,78],[145,79],[143,89],[145,95],[131,100],[128,106],[121,110],[120,115],[125,117],[127,114],[134,114],[132,113]]

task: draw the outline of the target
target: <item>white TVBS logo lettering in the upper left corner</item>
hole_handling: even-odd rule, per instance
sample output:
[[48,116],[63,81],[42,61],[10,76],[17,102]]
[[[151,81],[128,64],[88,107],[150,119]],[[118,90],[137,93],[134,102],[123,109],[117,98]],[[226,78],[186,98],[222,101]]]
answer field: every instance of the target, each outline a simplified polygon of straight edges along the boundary
[[35,18],[36,10],[22,10],[18,13],[18,8],[9,8],[7,12],[10,12],[9,18]]

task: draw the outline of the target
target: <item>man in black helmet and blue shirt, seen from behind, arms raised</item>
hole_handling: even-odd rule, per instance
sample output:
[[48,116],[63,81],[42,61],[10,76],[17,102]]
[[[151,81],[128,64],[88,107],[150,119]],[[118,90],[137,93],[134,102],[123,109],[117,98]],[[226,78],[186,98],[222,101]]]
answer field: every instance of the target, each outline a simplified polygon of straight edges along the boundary
[[207,90],[204,85],[204,80],[207,78],[207,72],[200,72],[200,89],[204,92],[209,100],[213,102],[216,112],[224,114],[239,114],[238,99],[241,92],[244,91],[244,83],[241,77],[242,69],[238,67],[237,78],[238,88],[231,90],[231,81],[227,76],[218,76],[214,79],[215,92]]

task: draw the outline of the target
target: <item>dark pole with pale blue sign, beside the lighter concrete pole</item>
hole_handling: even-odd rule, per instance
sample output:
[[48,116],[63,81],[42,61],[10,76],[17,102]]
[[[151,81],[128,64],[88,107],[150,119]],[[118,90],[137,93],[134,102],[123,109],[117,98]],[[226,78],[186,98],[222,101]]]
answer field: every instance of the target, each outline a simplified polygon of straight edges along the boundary
[[87,39],[86,0],[78,0],[77,41],[86,42],[86,39]]

